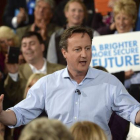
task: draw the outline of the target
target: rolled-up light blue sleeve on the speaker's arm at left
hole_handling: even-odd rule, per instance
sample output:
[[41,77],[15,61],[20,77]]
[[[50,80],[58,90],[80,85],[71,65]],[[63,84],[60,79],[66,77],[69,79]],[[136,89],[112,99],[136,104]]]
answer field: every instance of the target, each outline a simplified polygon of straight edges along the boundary
[[25,125],[42,113],[45,108],[45,96],[42,86],[40,82],[35,83],[29,90],[26,99],[9,108],[14,111],[17,118],[16,125],[9,126],[10,128]]

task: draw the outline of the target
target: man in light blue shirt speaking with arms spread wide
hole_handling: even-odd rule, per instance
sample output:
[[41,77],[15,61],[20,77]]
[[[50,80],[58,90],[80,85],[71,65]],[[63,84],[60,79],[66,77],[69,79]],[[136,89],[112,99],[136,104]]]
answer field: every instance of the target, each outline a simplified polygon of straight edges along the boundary
[[17,127],[45,109],[49,118],[61,120],[67,126],[76,121],[92,121],[105,131],[109,140],[112,110],[140,125],[140,104],[122,83],[109,73],[89,67],[92,38],[90,29],[81,26],[66,29],[60,47],[67,68],[41,78],[30,88],[25,100],[7,111],[2,109],[1,95],[0,121]]

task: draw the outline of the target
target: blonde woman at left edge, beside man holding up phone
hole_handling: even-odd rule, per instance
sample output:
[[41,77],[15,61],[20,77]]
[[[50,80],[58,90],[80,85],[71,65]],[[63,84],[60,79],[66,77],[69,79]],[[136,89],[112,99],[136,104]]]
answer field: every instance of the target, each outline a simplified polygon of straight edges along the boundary
[[[13,30],[7,26],[0,27],[0,93],[5,94],[4,99],[4,109],[7,109],[12,104],[11,99],[7,97],[4,90],[4,80],[7,75],[7,69],[5,67],[5,58],[8,53],[9,46],[19,47],[18,36],[13,32]],[[20,55],[21,57],[21,55]],[[23,60],[23,59],[20,59]],[[21,61],[20,61],[21,62]]]

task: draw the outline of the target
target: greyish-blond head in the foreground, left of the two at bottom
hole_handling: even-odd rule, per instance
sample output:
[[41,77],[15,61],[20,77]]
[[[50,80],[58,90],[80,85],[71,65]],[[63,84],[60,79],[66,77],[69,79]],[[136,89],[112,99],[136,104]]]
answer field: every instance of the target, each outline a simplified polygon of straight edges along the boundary
[[19,140],[74,140],[69,130],[58,120],[38,118],[23,129]]

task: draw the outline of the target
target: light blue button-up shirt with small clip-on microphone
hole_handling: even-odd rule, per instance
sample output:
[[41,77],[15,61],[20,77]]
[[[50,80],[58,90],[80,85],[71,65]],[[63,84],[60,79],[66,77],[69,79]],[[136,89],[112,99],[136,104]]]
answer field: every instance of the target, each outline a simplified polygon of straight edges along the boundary
[[[76,89],[80,95],[75,93]],[[29,90],[27,98],[10,109],[17,117],[15,126],[27,124],[45,109],[48,118],[58,119],[67,126],[76,121],[95,122],[111,140],[108,122],[112,110],[135,123],[140,104],[109,73],[89,68],[83,81],[77,84],[65,68],[41,78]]]

